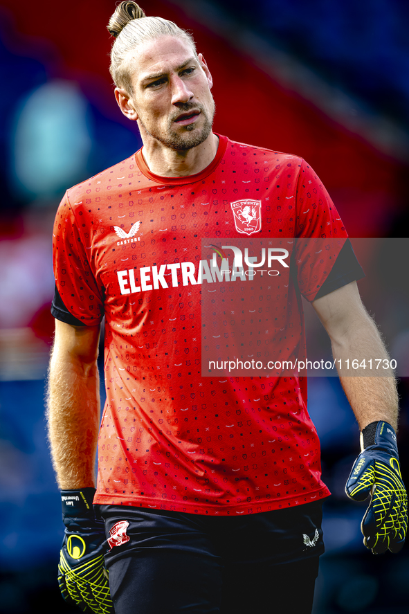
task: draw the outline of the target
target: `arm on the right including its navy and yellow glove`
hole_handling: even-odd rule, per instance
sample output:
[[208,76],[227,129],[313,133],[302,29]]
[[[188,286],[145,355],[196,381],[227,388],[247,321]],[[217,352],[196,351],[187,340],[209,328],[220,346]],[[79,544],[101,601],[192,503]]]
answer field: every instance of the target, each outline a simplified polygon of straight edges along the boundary
[[[374,365],[376,359],[389,359],[378,329],[361,303],[356,282],[318,298],[313,307],[331,338],[334,358],[342,365],[347,359],[349,366],[353,360],[368,365],[372,359]],[[370,496],[361,523],[365,546],[374,554],[388,549],[399,552],[408,516],[394,432],[398,396],[393,373],[385,370],[384,377],[373,377],[363,367],[352,371],[341,367],[338,373],[361,429],[361,453],[349,473],[345,491],[356,501]]]

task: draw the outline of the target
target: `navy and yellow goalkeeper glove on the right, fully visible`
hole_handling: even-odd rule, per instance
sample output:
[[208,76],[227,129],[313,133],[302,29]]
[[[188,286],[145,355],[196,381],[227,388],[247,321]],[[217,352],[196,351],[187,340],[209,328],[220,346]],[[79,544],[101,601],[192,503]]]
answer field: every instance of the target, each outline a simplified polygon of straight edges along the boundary
[[361,433],[361,454],[349,474],[345,492],[354,501],[370,494],[363,516],[363,543],[374,554],[399,552],[408,526],[408,496],[399,467],[397,437],[388,422],[372,422]]

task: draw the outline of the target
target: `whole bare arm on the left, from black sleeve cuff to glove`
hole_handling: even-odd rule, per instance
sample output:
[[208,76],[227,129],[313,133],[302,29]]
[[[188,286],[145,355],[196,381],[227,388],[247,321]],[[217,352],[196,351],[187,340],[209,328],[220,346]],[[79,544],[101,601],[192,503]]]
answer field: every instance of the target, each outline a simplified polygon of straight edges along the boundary
[[60,489],[95,486],[100,426],[100,326],[55,320],[48,379],[48,437]]

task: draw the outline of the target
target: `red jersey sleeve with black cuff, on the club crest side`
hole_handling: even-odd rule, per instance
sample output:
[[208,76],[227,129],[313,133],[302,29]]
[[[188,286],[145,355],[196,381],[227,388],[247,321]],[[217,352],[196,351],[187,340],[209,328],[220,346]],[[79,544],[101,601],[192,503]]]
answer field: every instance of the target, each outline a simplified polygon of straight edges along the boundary
[[302,296],[311,302],[363,277],[363,271],[334,203],[304,160],[296,199],[293,271]]

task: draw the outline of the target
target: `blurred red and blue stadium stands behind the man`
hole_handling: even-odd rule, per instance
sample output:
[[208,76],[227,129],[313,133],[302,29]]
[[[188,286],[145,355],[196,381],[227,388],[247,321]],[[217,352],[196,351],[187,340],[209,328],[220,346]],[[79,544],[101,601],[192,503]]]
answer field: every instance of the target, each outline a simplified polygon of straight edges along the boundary
[[[0,0],[1,613],[71,612],[57,589],[62,523],[44,423],[51,232],[67,187],[140,147],[116,107],[108,72],[105,28],[114,6]],[[305,157],[351,237],[408,237],[407,0],[146,0],[142,6],[193,30],[215,80],[218,132]],[[359,254],[367,273],[361,292],[401,361],[409,353],[405,245],[393,242],[395,266],[388,268],[381,240]],[[314,338],[318,325],[310,317],[309,325]],[[399,391],[409,485],[407,378]],[[333,493],[325,504],[327,552],[314,614],[406,613],[408,547],[399,556],[367,552],[359,530],[365,505],[349,503],[343,491],[358,428],[338,379],[311,379],[309,409]],[[273,603],[272,595],[271,611]]]

